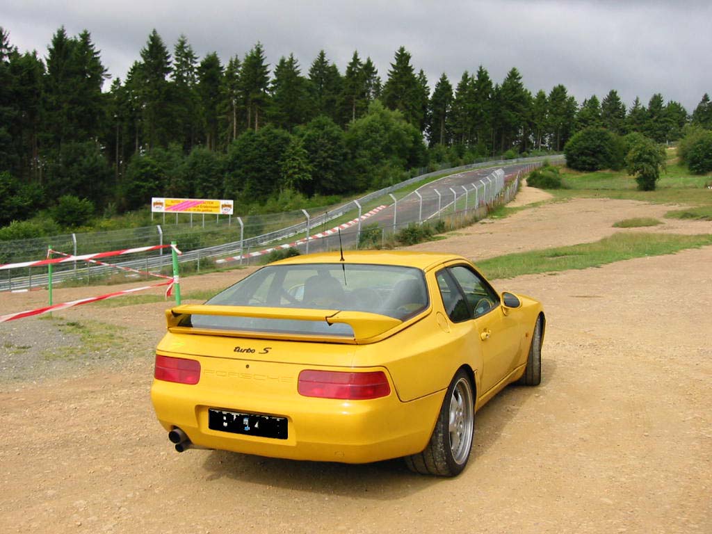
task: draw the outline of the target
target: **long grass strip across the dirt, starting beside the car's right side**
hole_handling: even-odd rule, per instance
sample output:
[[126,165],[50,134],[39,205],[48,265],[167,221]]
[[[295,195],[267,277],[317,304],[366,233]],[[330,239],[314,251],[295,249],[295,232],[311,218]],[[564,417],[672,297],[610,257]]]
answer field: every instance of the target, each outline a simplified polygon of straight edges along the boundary
[[513,278],[523,274],[599,267],[615,261],[662,256],[706,245],[712,245],[712,234],[614,234],[595,243],[498,256],[480,261],[478,266],[487,278]]

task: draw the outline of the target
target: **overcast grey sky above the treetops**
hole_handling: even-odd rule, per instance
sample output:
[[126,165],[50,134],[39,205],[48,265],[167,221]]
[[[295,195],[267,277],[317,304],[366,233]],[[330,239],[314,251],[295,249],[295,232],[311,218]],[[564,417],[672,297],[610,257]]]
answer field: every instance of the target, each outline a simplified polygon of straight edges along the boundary
[[[654,93],[692,112],[712,94],[710,0],[3,0],[0,26],[41,57],[53,33],[90,31],[113,78],[140,59],[156,28],[172,51],[181,34],[199,57],[243,58],[260,41],[267,61],[294,53],[303,74],[323,49],[343,73],[354,51],[382,81],[404,46],[434,88],[464,71],[501,83],[516,67],[532,93],[562,83],[578,102],[615,89],[629,106]],[[108,89],[109,83],[105,84]]]

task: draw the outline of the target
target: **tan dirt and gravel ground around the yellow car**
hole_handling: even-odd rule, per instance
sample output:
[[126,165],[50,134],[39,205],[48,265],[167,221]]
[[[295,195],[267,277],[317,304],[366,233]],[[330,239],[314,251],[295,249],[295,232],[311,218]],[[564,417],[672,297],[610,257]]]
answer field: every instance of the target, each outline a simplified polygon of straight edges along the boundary
[[[516,201],[543,195],[523,188]],[[615,221],[668,209],[549,203],[412,248],[476,260],[596,241]],[[698,234],[712,223],[624,231]],[[543,383],[508,387],[478,412],[470,464],[454,479],[414,475],[401,461],[175,453],[148,396],[164,303],[61,313],[117,325],[129,340],[125,353],[84,362],[47,357],[75,340],[59,320],[2,324],[0,532],[710,533],[711,267],[706,247],[496,281],[543,300]],[[243,272],[184,278],[183,288],[218,289]],[[58,290],[55,300],[101,290]],[[0,310],[46,298],[0,294]],[[31,362],[21,372],[20,360]]]

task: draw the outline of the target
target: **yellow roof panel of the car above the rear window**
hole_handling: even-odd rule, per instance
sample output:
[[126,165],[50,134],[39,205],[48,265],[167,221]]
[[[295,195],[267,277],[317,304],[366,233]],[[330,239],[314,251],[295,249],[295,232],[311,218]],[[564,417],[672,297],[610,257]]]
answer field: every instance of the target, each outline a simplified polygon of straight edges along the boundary
[[[344,251],[344,263],[417,267],[423,271],[446,261],[465,260],[450,253],[411,251]],[[466,260],[465,260],[466,261]],[[300,265],[305,263],[341,263],[339,251],[292,256],[270,265]]]

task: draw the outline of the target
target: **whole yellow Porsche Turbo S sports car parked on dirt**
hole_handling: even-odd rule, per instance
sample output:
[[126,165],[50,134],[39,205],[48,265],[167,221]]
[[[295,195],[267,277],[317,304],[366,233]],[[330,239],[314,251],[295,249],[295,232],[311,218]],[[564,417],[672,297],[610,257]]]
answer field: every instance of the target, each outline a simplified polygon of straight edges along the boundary
[[460,256],[323,253],[277,261],[166,312],[151,398],[177,451],[466,466],[475,412],[536,385],[545,318]]

